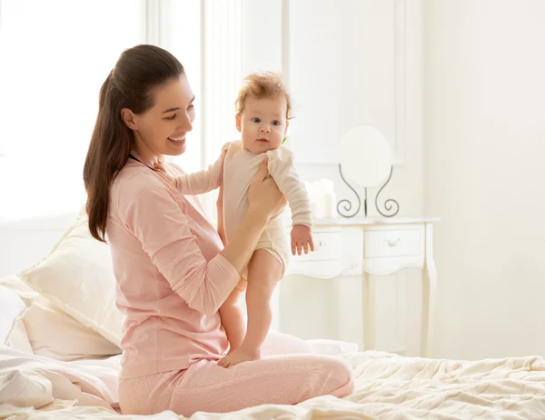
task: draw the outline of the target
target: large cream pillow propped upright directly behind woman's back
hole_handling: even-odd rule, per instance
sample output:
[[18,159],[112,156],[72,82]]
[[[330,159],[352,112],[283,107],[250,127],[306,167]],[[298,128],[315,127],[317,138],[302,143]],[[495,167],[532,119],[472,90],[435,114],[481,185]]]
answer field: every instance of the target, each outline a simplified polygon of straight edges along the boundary
[[120,345],[124,317],[115,306],[110,249],[91,236],[86,214],[78,217],[49,256],[20,275],[66,314]]

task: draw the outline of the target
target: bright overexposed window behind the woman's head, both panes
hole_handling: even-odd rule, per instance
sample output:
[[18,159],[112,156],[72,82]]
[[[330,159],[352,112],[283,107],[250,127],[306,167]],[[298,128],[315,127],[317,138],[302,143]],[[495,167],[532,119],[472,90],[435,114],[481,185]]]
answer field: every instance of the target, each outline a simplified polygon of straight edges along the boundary
[[[1,1],[0,223],[84,204],[100,86],[133,45],[160,45],[182,62],[197,113],[187,151],[172,160],[186,172],[211,164],[239,138],[243,30],[243,0]],[[203,197],[212,219],[215,196]]]

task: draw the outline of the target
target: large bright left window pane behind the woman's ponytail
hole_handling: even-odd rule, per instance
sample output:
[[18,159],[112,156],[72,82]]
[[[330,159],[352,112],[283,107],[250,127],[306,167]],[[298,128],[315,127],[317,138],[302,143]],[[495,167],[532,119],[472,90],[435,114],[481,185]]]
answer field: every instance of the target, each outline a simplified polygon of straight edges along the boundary
[[0,7],[0,222],[77,211],[96,93],[124,48],[145,42],[145,1]]

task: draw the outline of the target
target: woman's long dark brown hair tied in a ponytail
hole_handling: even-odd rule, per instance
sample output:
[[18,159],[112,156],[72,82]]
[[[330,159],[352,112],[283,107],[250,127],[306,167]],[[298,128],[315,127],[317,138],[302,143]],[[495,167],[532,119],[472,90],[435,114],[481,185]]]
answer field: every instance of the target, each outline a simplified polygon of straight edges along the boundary
[[110,186],[134,143],[133,130],[124,124],[121,110],[143,114],[154,106],[154,87],[183,73],[183,65],[163,48],[136,45],[122,53],[106,77],[84,165],[86,210],[95,239],[106,242]]

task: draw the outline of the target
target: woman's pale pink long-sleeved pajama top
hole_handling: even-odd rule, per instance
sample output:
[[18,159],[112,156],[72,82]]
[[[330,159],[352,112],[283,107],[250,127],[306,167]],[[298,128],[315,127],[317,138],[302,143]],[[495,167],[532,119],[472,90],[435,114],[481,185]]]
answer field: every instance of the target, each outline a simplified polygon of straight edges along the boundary
[[198,201],[129,159],[111,188],[106,232],[126,315],[120,377],[221,358],[228,342],[218,308],[240,275],[219,254],[222,241]]

